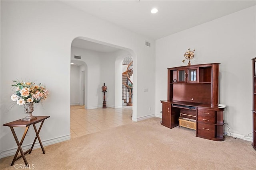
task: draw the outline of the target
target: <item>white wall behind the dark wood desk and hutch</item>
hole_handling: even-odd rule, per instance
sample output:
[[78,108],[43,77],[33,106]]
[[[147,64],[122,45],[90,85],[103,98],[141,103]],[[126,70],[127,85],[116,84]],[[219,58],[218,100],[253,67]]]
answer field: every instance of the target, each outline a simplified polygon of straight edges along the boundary
[[[252,132],[252,61],[256,57],[255,6],[156,41],[156,115],[167,99],[166,68],[184,66],[184,53],[196,49],[192,64],[220,64],[220,103],[232,136]],[[228,130],[225,125],[226,131]],[[228,134],[230,135],[230,133]],[[244,138],[245,139],[245,138]]]

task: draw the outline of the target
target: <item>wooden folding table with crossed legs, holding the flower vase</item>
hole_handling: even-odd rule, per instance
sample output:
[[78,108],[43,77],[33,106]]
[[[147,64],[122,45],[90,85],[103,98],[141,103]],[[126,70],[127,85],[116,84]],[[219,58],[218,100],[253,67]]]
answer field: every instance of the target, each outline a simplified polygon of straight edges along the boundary
[[[40,137],[39,137],[39,133],[40,133],[40,130],[41,130],[41,128],[42,128],[42,125],[44,124],[44,120],[47,119],[48,117],[50,117],[50,116],[37,116],[36,119],[31,120],[31,121],[21,121],[21,120],[19,119],[19,120],[12,121],[12,122],[9,122],[9,123],[6,123],[6,124],[3,125],[3,126],[9,126],[9,127],[11,128],[12,135],[14,136],[14,139],[15,139],[17,145],[18,145],[18,149],[17,149],[16,154],[15,154],[13,160],[12,160],[11,166],[14,165],[14,162],[15,162],[16,160],[20,159],[20,158],[23,158],[23,160],[24,160],[24,162],[25,162],[25,164],[26,164],[26,167],[29,166],[29,165],[28,165],[28,161],[26,160],[25,154],[27,154],[27,153],[30,154],[30,153],[32,152],[32,149],[33,149],[33,147],[34,147],[34,145],[35,145],[35,143],[36,143],[36,139],[38,139],[38,141],[39,141],[39,143],[40,143],[40,146],[41,146],[41,149],[42,149],[43,153],[45,154],[44,147],[43,147],[42,142],[41,142],[41,139],[40,139]],[[37,129],[36,129],[36,123],[39,123],[39,122],[42,122],[42,123],[41,123],[39,129],[37,130]],[[27,132],[28,132],[28,128],[30,127],[30,125],[33,125],[34,130],[35,130],[35,132],[36,132],[36,137],[35,137],[35,139],[34,139],[34,142],[33,142],[32,146],[31,146],[31,148],[28,149],[27,151],[23,152],[23,150],[22,150],[22,148],[21,148],[21,145],[22,145],[22,143],[23,143],[23,141],[24,141],[24,139],[25,139],[25,137],[26,137],[26,134],[27,134]],[[16,133],[15,133],[13,127],[26,127],[26,129],[25,129],[25,131],[24,131],[24,134],[23,134],[22,139],[20,140],[20,142],[19,142],[19,140],[18,140],[18,138],[17,138],[17,135],[16,135]],[[20,151],[20,154],[21,154],[20,156],[18,156],[19,151]],[[18,158],[17,158],[17,156],[18,156]]]

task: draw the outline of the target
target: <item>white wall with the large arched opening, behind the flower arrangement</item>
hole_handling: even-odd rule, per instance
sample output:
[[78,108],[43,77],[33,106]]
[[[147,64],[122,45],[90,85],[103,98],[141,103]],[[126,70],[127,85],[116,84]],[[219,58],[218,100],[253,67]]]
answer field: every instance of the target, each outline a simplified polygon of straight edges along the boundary
[[[43,105],[37,104],[33,112],[34,115],[50,115],[40,132],[43,144],[50,145],[70,139],[70,47],[76,37],[122,47],[132,54],[136,73],[133,76],[136,86],[132,119],[137,121],[154,116],[154,40],[100,20],[60,1],[0,3],[1,125],[24,117],[22,107],[15,105],[10,109],[12,80],[37,80],[50,91],[50,96]],[[144,45],[145,39],[151,42],[151,47]],[[88,81],[91,80],[89,75],[88,72]],[[97,81],[90,86],[102,84],[100,79]],[[148,87],[149,92],[144,93],[144,87]],[[152,108],[151,111],[148,111],[149,107]],[[0,126],[0,131],[1,156],[14,154],[16,144],[10,128]],[[17,134],[23,131],[23,128],[16,128]],[[29,147],[33,139],[33,135],[27,136],[23,145]]]

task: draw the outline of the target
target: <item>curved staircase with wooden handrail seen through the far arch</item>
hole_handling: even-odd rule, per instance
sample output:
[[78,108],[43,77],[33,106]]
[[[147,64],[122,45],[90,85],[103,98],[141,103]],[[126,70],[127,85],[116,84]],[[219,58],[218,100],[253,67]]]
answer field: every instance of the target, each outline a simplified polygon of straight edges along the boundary
[[122,75],[122,100],[124,100],[126,106],[132,106],[132,57],[124,59],[123,65],[127,65],[127,68]]

